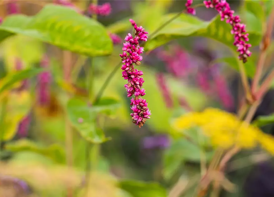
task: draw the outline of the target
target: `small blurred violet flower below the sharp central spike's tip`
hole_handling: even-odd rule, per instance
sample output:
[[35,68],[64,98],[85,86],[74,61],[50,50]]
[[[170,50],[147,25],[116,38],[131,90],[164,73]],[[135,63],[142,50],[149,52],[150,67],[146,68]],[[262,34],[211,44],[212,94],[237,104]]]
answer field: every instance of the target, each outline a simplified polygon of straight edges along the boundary
[[170,140],[167,135],[145,137],[142,143],[144,149],[167,148],[170,146]]

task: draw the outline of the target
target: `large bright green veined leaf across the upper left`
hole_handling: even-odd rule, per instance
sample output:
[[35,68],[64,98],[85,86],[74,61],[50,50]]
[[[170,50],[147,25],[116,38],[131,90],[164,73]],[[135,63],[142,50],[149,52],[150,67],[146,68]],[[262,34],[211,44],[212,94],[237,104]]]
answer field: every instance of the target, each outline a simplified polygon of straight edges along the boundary
[[[19,20],[23,21],[22,24],[17,22]],[[0,40],[12,34],[23,34],[89,56],[107,55],[113,50],[112,41],[102,24],[68,7],[52,4],[44,6],[33,17],[7,17],[0,26],[0,34],[4,34]]]

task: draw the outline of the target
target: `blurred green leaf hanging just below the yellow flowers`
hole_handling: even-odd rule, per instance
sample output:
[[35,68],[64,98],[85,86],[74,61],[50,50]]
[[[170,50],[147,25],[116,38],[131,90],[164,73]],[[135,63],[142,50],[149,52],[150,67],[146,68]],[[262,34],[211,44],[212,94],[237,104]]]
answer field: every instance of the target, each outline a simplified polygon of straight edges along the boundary
[[[170,179],[180,165],[186,161],[199,163],[201,151],[200,147],[187,139],[175,140],[164,152],[164,178]],[[210,159],[212,152],[206,152],[205,155],[206,159]]]

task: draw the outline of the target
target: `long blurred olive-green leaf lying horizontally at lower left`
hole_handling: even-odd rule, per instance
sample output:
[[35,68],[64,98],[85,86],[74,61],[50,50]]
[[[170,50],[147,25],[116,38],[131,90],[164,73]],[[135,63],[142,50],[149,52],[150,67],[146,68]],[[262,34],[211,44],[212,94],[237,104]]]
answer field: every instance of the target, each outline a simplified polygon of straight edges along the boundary
[[40,155],[49,157],[55,160],[56,162],[59,162],[59,163],[65,162],[64,150],[58,144],[52,144],[48,147],[43,147],[32,141],[21,139],[13,143],[6,144],[6,149],[12,152],[21,152],[21,151],[35,152]]

